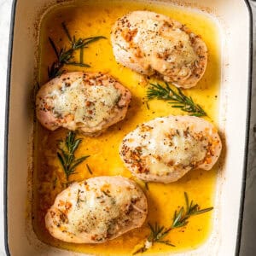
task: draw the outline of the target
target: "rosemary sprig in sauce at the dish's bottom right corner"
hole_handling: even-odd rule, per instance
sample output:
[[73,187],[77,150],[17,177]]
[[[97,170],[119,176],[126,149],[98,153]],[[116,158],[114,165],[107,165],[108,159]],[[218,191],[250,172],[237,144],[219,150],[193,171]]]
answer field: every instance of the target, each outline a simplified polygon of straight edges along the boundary
[[148,235],[147,240],[144,242],[143,247],[137,249],[137,251],[133,253],[133,255],[146,252],[150,247],[154,246],[155,242],[164,243],[168,246],[175,247],[175,245],[173,245],[171,241],[165,239],[170,231],[184,227],[189,224],[189,218],[191,216],[209,212],[213,209],[213,207],[200,209],[200,206],[198,204],[194,204],[193,201],[189,202],[189,196],[186,192],[184,192],[184,197],[186,202],[186,208],[181,207],[178,211],[174,212],[172,224],[168,228],[166,228],[165,226],[160,226],[157,223],[155,223],[154,225],[148,223],[150,234]]

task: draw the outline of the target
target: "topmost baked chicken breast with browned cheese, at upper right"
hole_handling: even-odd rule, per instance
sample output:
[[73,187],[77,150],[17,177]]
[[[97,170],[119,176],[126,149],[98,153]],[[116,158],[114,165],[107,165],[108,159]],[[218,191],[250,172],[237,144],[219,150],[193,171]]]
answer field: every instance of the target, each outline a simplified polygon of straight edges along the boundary
[[177,87],[195,86],[207,67],[207,45],[200,36],[165,15],[131,12],[113,25],[111,40],[116,61]]

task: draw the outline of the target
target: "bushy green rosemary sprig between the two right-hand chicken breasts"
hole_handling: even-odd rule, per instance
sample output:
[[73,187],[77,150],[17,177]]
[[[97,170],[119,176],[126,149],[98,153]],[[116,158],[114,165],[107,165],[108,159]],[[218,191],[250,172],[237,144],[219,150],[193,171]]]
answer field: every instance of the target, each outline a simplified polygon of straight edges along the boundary
[[174,90],[166,83],[166,87],[161,84],[152,84],[148,88],[148,100],[158,99],[169,102],[172,108],[180,108],[182,111],[190,113],[194,116],[207,116],[207,113],[196,104],[191,96],[185,96],[183,91],[179,88]]

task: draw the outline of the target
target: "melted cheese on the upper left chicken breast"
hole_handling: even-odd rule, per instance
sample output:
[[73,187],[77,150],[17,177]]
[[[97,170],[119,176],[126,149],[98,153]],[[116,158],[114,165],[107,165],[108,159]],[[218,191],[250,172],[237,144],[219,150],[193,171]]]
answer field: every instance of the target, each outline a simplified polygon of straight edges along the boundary
[[119,101],[120,93],[113,86],[84,84],[83,79],[66,86],[64,83],[60,90],[53,90],[49,99],[53,99],[55,116],[65,117],[73,115],[76,123],[83,123],[95,127],[110,117],[112,109]]

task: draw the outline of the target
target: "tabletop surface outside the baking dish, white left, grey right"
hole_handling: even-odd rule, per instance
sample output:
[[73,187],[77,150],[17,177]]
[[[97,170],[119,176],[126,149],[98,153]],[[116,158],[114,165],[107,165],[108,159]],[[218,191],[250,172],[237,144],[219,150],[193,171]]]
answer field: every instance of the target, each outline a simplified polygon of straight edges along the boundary
[[[3,149],[6,80],[9,52],[9,26],[11,0],[0,0],[0,255],[5,255],[3,241]],[[253,14],[256,16],[256,3],[252,2]],[[256,20],[253,19],[253,56],[256,61]],[[254,61],[254,62],[255,62]],[[245,84],[246,86],[246,84]],[[253,127],[255,127],[253,129]],[[253,131],[254,130],[254,131]],[[245,212],[241,237],[240,256],[256,255],[256,65],[253,67],[252,117],[250,125],[249,158],[247,166],[247,188]],[[19,170],[17,170],[19,178]],[[19,196],[19,195],[17,195]],[[27,255],[33,256],[33,255]],[[229,256],[229,255],[221,255]]]

